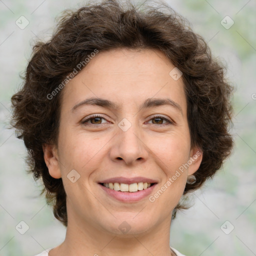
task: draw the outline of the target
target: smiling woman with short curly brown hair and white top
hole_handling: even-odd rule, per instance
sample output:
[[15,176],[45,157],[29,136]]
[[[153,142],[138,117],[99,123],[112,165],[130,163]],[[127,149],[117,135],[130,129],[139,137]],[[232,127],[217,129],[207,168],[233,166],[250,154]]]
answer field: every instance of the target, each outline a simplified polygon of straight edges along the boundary
[[66,226],[40,256],[182,255],[169,246],[171,219],[230,154],[232,88],[163,6],[66,11],[33,48],[12,125]]

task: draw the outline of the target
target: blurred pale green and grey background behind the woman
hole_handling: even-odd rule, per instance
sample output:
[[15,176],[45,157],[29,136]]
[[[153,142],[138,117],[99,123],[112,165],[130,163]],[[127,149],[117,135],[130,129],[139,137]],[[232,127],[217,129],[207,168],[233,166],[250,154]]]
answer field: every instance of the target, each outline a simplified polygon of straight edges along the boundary
[[[226,77],[235,87],[231,130],[234,152],[213,180],[191,194],[191,208],[177,213],[170,230],[171,246],[187,256],[256,255],[256,1],[165,2],[204,37],[213,55],[227,65]],[[7,127],[10,97],[21,84],[19,73],[26,67],[33,40],[49,38],[55,16],[65,8],[77,8],[83,3],[78,0],[0,1],[2,256],[32,256],[57,246],[65,237],[64,226],[54,219],[44,197],[39,197],[40,184],[25,172],[23,141],[15,138],[14,131]],[[15,23],[20,16],[29,22],[23,29]],[[15,229],[21,220],[29,226],[24,234]],[[226,234],[232,226],[234,229]]]

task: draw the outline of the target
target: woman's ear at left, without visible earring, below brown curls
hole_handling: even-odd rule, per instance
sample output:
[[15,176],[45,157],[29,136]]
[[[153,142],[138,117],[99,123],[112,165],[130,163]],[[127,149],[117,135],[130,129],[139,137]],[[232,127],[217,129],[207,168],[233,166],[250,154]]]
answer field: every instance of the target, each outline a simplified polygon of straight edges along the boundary
[[53,178],[60,178],[61,172],[58,164],[58,154],[56,146],[53,144],[43,144],[43,158],[48,167],[49,174]]

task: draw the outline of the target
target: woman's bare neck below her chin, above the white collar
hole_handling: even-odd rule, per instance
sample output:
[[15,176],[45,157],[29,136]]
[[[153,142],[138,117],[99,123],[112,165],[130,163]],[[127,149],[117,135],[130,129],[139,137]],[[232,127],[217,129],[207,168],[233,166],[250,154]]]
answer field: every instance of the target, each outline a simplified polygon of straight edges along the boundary
[[170,256],[170,218],[155,223],[146,231],[120,234],[103,230],[77,216],[69,218],[65,240],[50,250],[49,256]]

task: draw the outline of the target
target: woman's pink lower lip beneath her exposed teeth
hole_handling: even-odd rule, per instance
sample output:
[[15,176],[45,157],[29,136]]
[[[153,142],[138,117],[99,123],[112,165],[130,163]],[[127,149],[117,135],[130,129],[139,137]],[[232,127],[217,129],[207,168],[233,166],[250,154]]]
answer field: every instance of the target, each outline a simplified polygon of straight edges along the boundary
[[122,202],[136,202],[139,201],[146,196],[148,196],[154,187],[156,186],[156,183],[151,185],[150,187],[143,189],[143,190],[138,190],[137,192],[121,192],[121,191],[116,191],[114,189],[107,188],[101,184],[98,184],[108,195],[111,197],[122,201]]

